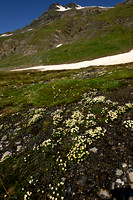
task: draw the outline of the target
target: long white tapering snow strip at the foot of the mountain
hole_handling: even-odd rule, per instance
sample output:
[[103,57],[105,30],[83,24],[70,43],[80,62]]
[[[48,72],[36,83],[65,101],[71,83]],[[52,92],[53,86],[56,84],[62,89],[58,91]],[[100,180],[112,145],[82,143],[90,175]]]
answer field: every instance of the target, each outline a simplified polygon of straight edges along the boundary
[[133,62],[133,50],[113,56],[106,56],[102,58],[97,58],[90,61],[83,61],[78,63],[72,64],[60,64],[60,65],[47,65],[47,66],[36,66],[36,67],[29,67],[24,69],[16,69],[11,71],[24,71],[24,70],[41,70],[41,71],[48,71],[48,70],[68,70],[68,69],[80,69],[86,68],[89,66],[101,66],[101,65],[118,65],[118,64],[125,64],[125,63],[132,63]]

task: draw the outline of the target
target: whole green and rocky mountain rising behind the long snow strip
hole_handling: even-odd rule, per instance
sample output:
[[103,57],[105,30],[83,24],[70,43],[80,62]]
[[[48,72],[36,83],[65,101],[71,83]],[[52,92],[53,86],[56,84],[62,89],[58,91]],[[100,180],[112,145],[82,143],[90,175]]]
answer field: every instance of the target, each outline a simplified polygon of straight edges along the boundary
[[52,4],[24,28],[0,35],[0,67],[75,62],[130,50],[132,13],[132,0],[114,8]]

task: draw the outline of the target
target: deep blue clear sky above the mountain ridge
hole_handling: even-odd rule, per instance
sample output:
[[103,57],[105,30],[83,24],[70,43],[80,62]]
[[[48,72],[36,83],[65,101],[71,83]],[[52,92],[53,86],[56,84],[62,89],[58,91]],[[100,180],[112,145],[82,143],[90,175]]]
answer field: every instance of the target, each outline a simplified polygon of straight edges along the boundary
[[0,33],[13,31],[29,24],[44,13],[52,3],[65,5],[75,2],[81,6],[114,6],[123,0],[1,0]]

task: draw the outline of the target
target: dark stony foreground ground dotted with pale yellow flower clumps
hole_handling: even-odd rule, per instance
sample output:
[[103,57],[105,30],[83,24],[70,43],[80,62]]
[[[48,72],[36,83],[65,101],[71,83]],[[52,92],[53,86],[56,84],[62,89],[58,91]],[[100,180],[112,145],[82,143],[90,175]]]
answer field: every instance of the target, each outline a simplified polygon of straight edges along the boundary
[[70,104],[1,115],[0,199],[133,199],[133,85],[126,81]]

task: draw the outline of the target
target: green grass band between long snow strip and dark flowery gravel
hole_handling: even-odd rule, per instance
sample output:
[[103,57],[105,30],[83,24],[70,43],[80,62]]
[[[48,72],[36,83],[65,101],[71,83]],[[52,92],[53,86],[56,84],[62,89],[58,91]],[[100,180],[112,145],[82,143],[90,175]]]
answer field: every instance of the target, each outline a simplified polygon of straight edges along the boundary
[[[94,71],[95,68],[92,68],[92,70]],[[30,105],[52,107],[68,104],[77,101],[89,88],[113,90],[126,85],[126,79],[133,78],[132,65],[131,70],[128,68],[122,69],[121,67],[120,69],[118,67],[117,72],[113,67],[107,71],[105,69],[103,76],[98,78],[79,79],[77,77],[73,79],[72,74],[82,74],[82,72],[89,74],[85,69],[63,72],[1,72],[0,109],[3,113],[10,113],[10,110],[21,110]],[[109,72],[111,74],[108,75]],[[97,72],[96,76],[99,75],[101,73]]]

